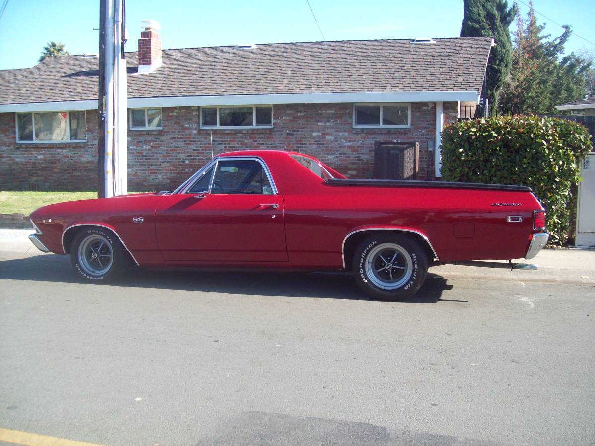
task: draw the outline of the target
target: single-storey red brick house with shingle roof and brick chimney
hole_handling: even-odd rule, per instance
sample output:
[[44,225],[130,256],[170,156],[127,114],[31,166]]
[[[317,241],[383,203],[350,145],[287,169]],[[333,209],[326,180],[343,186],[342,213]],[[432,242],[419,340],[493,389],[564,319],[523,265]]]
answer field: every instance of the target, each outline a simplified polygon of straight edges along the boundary
[[[375,147],[417,142],[439,175],[440,131],[480,101],[491,37],[267,43],[161,50],[146,29],[128,65],[130,190],[171,189],[239,149],[317,156],[374,175]],[[98,59],[0,71],[0,189],[95,190]],[[378,159],[376,159],[376,162]]]

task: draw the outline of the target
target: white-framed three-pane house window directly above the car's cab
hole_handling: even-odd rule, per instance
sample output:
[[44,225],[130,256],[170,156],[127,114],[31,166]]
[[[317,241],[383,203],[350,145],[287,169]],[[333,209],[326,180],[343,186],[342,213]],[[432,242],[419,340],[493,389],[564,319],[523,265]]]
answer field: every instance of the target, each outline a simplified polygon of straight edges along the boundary
[[272,105],[201,107],[201,128],[272,127]]

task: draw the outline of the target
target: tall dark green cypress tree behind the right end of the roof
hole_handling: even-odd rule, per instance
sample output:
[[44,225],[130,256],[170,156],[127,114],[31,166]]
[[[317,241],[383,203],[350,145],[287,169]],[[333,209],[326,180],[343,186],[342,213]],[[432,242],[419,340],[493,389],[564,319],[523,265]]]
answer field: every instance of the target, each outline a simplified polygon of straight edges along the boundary
[[511,70],[512,42],[509,28],[516,11],[516,5],[509,8],[506,0],[463,0],[461,36],[491,36],[496,40],[486,73],[487,97],[492,114],[496,111],[500,90]]

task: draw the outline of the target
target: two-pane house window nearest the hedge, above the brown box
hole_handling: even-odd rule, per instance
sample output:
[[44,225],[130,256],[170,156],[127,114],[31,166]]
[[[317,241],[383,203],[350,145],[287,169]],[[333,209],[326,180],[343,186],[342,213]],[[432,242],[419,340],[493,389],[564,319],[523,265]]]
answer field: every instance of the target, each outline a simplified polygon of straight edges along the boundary
[[409,128],[409,103],[361,103],[353,105],[354,128]]

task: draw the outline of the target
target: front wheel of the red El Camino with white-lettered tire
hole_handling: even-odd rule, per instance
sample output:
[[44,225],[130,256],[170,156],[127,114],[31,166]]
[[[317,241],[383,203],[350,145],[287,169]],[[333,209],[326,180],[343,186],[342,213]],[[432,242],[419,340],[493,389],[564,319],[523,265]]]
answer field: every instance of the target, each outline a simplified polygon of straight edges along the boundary
[[120,241],[103,228],[85,228],[70,247],[74,271],[89,282],[111,282],[127,265],[127,254]]

